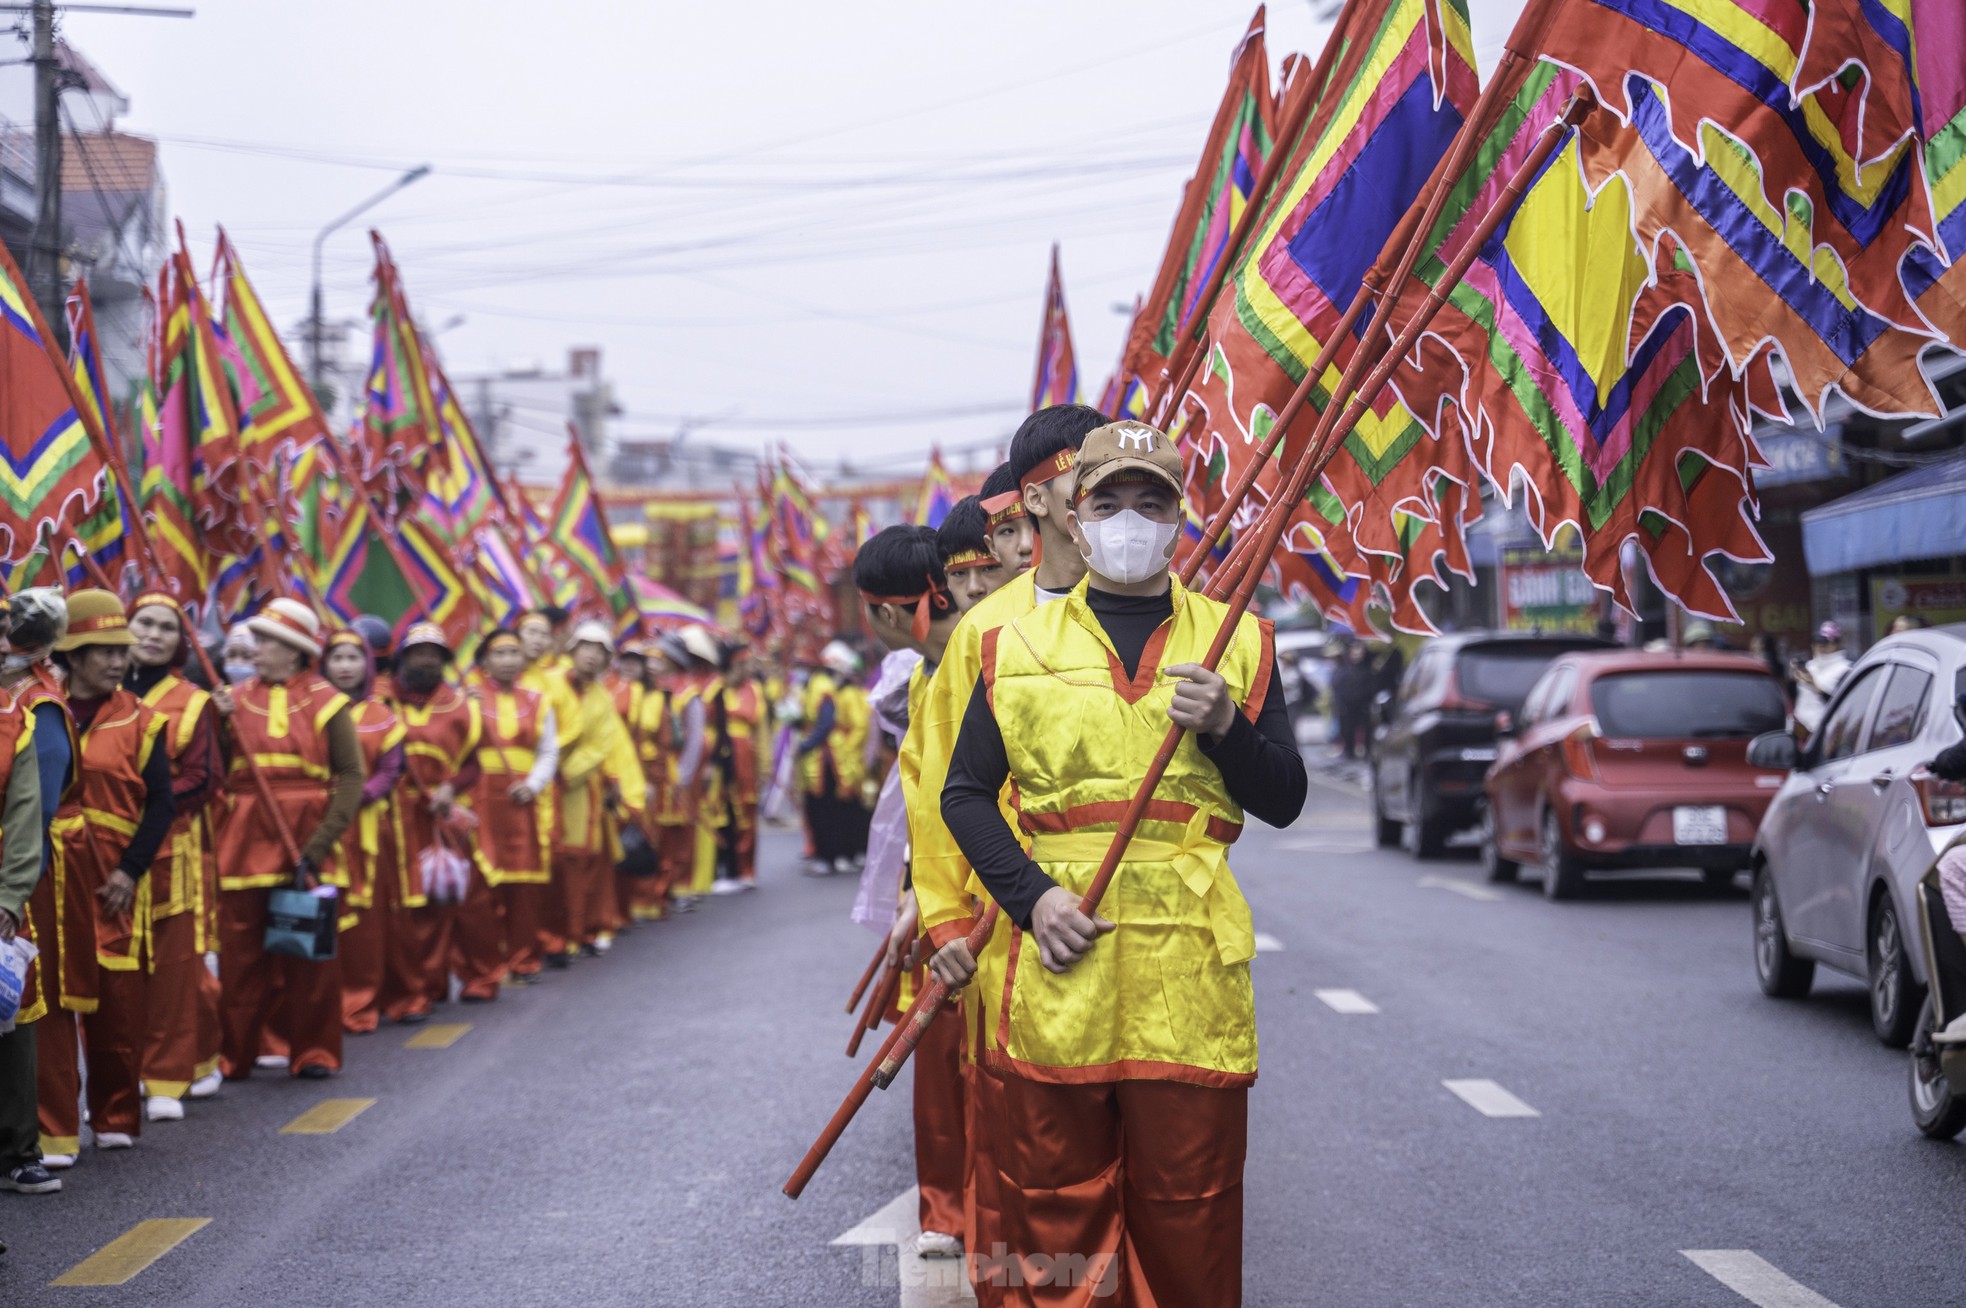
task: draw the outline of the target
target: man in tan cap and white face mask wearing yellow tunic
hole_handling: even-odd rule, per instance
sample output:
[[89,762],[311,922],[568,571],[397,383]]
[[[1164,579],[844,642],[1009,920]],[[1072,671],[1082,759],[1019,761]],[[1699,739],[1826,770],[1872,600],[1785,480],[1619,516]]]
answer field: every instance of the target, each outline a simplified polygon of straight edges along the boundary
[[[1170,576],[1182,458],[1164,433],[1089,433],[1062,517],[1087,574],[983,637],[942,791],[1016,928],[987,1048],[1007,1239],[1034,1304],[1237,1304],[1256,946],[1227,850],[1244,812],[1296,820],[1303,757],[1266,624],[1241,618],[1201,667],[1227,606]],[[1087,917],[1168,722],[1187,734]]]

